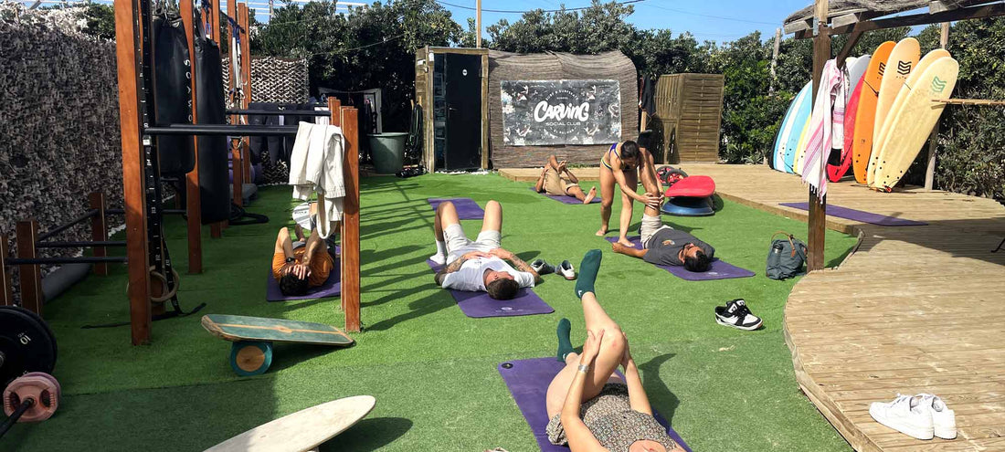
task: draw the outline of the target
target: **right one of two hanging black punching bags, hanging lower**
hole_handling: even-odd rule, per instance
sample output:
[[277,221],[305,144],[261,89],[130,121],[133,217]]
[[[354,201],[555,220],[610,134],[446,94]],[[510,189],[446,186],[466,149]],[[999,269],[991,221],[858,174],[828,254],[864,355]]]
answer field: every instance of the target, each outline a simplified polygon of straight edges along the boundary
[[[226,124],[220,47],[202,32],[195,36],[195,65],[196,121],[199,124]],[[227,220],[230,218],[227,138],[202,136],[198,140],[202,224]]]

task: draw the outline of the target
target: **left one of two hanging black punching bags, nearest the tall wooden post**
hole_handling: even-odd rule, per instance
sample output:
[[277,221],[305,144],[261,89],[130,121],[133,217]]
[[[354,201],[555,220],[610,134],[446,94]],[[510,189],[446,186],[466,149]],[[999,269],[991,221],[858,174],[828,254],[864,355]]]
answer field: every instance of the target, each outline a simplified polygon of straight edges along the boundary
[[[154,119],[159,126],[192,124],[189,114],[192,91],[191,64],[185,28],[177,12],[155,14],[154,47]],[[191,136],[157,138],[161,174],[181,176],[195,168]]]

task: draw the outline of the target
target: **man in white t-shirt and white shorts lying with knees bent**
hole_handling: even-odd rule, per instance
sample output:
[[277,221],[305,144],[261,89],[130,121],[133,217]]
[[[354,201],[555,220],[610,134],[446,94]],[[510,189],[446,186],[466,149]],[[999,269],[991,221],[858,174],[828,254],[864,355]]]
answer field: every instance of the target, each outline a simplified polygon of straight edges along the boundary
[[437,264],[445,264],[436,272],[436,284],[456,290],[485,291],[495,299],[512,299],[521,287],[534,287],[541,282],[541,276],[531,265],[499,247],[501,230],[502,207],[497,201],[485,204],[481,232],[474,240],[464,235],[453,203],[440,203],[433,222],[436,254],[429,257]]

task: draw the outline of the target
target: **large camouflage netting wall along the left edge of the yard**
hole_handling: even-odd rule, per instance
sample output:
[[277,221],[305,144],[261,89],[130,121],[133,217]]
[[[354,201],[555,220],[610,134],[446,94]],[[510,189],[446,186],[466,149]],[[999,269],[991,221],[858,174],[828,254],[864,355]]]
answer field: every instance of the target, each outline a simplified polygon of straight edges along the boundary
[[[11,237],[19,220],[44,233],[78,217],[90,192],[123,204],[116,47],[80,33],[80,17],[0,3],[0,232]],[[54,239],[89,240],[89,222]]]

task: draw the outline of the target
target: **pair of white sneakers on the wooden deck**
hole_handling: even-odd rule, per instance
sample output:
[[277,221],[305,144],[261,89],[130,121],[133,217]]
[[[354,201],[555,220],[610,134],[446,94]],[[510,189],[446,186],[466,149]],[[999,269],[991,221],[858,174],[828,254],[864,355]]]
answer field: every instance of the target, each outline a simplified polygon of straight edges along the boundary
[[933,394],[897,394],[892,402],[873,402],[869,406],[869,416],[876,422],[914,438],[956,438],[956,413],[939,396]]

